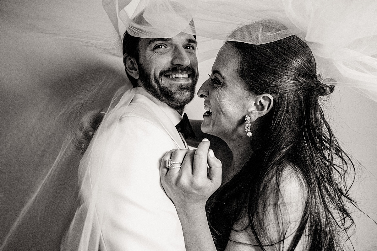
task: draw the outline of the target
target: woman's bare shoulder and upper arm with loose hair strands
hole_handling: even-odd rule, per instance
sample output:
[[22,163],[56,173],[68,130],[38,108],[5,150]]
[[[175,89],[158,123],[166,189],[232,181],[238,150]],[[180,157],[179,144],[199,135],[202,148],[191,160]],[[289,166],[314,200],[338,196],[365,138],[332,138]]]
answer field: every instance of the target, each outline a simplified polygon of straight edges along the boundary
[[[285,164],[264,183],[263,198],[252,217],[246,214],[233,225],[227,251],[288,250],[300,228],[307,201],[307,188],[299,169]],[[303,235],[305,236],[305,234]],[[305,250],[301,238],[295,250]]]

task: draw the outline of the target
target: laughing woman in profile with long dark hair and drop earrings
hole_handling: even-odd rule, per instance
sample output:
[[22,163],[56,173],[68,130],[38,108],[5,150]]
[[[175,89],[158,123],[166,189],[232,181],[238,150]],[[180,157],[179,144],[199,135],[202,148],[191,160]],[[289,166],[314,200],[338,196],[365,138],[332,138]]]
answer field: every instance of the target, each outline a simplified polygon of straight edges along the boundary
[[[207,107],[201,130],[227,143],[231,166],[221,173],[207,139],[161,162],[187,251],[343,250],[354,224],[344,178],[354,165],[321,107],[333,89],[294,35],[221,47],[198,96]],[[182,167],[167,168],[168,159]]]

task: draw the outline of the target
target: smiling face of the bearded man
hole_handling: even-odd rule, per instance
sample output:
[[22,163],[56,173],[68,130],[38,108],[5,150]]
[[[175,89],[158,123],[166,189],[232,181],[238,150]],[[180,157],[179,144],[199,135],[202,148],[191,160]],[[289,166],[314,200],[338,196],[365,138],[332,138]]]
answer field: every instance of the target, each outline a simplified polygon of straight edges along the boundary
[[138,81],[157,99],[182,111],[195,96],[195,51],[194,36],[183,32],[173,38],[141,38]]

